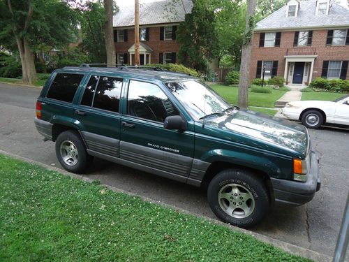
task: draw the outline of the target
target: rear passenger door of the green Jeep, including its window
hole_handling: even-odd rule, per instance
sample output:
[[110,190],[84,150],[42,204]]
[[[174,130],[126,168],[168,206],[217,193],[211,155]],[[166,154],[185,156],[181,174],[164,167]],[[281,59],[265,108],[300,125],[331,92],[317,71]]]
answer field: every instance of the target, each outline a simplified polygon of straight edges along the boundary
[[119,157],[122,85],[122,78],[92,74],[82,92],[74,117],[89,154]]

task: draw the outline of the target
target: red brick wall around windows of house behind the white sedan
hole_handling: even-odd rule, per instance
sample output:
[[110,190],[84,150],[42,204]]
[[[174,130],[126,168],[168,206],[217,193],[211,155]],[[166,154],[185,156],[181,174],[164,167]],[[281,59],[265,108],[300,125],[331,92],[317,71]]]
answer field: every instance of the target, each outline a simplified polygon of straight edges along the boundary
[[[256,77],[257,61],[258,60],[278,60],[279,76],[284,76],[285,73],[285,55],[288,48],[292,50],[311,50],[315,48],[313,79],[321,77],[322,62],[324,60],[349,60],[349,45],[326,45],[327,29],[313,30],[313,41],[311,47],[294,47],[293,39],[295,38],[295,31],[283,31],[281,33],[280,47],[274,48],[260,48],[259,40],[260,33],[255,33],[252,41],[251,64],[249,71],[250,80]],[[347,79],[349,79],[349,70],[347,72]]]

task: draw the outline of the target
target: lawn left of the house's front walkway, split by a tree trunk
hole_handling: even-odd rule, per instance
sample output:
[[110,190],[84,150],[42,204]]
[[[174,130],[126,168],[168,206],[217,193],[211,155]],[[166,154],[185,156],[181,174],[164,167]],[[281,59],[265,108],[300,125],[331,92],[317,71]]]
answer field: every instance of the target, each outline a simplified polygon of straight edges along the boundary
[[[228,87],[226,85],[211,85],[218,94],[232,105],[237,104],[237,87]],[[248,106],[259,106],[262,108],[274,108],[276,100],[281,98],[286,91],[272,90],[272,94],[253,93],[248,91]]]

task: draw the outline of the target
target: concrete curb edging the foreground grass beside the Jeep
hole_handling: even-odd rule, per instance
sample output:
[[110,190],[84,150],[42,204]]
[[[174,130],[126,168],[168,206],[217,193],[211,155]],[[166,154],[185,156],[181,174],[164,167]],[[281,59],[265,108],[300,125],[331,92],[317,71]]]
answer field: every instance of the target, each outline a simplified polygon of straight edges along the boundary
[[[60,168],[47,165],[45,163],[40,163],[38,161],[27,159],[26,157],[20,157],[17,154],[12,154],[12,153],[9,153],[9,152],[3,151],[3,150],[0,150],[0,154],[4,154],[4,155],[6,155],[8,157],[13,157],[14,159],[18,159],[18,160],[21,160],[21,161],[24,161],[24,162],[27,162],[27,163],[34,163],[34,164],[36,164],[38,166],[46,168],[47,170],[56,171],[56,172],[61,173],[63,175],[68,175],[69,177],[74,177],[74,178],[80,179],[80,180],[85,181],[85,182],[90,182],[91,183],[91,182],[94,181],[94,180],[91,180],[90,178],[83,177],[82,175],[76,175],[76,174],[73,174],[73,173],[69,173],[66,170],[62,170]],[[257,238],[258,240],[260,240],[262,242],[266,242],[266,243],[268,243],[270,245],[273,245],[274,247],[278,247],[280,249],[283,249],[286,252],[290,252],[291,254],[295,254],[295,255],[298,255],[298,256],[303,256],[306,259],[311,259],[313,261],[320,261],[320,262],[330,262],[330,261],[332,261],[332,258],[330,256],[327,256],[325,254],[320,254],[320,253],[315,252],[315,251],[313,251],[311,249],[306,249],[304,247],[298,247],[298,246],[292,245],[292,244],[290,244],[288,242],[283,242],[281,240],[276,240],[275,238],[270,238],[270,237],[268,237],[266,235],[262,235],[262,234],[259,234],[259,233],[254,233],[252,231],[248,231],[248,230],[243,229],[243,228],[238,228],[236,226],[225,224],[225,223],[223,223],[221,221],[217,221],[217,220],[211,219],[209,217],[198,215],[198,214],[195,214],[195,213],[190,212],[188,210],[183,210],[181,208],[177,208],[174,205],[168,205],[168,204],[163,203],[161,201],[155,201],[154,199],[147,198],[147,197],[144,197],[144,196],[140,196],[138,194],[132,194],[132,193],[130,193],[128,191],[124,191],[122,189],[118,189],[117,187],[108,186],[107,184],[102,184],[102,185],[107,187],[108,189],[114,191],[114,192],[124,193],[124,194],[128,194],[128,195],[131,195],[131,196],[138,196],[138,197],[142,198],[142,200],[147,201],[149,203],[155,203],[157,205],[162,205],[162,206],[165,206],[167,208],[172,208],[174,210],[178,210],[179,212],[183,212],[185,214],[191,214],[191,215],[193,215],[195,217],[200,217],[202,219],[206,219],[206,220],[210,221],[211,223],[228,227],[228,228],[232,229],[233,231],[239,231],[239,232],[245,233],[247,235],[251,235],[251,236]]]

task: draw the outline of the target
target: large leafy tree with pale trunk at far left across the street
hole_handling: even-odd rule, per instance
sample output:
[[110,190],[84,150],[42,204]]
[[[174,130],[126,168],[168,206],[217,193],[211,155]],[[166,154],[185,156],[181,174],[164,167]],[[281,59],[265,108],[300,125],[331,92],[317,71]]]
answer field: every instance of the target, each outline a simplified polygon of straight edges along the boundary
[[68,45],[75,37],[76,24],[77,15],[65,1],[0,0],[0,41],[9,48],[16,43],[24,83],[37,79],[34,52],[44,45]]

